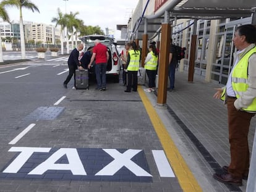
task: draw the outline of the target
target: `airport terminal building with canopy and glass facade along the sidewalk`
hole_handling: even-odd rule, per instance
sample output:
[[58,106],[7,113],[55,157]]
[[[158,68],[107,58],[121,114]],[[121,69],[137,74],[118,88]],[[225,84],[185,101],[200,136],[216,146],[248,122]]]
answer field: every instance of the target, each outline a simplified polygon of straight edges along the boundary
[[[221,5],[221,8],[217,8],[215,3]],[[206,81],[226,84],[233,64],[233,53],[236,51],[232,41],[234,30],[238,25],[256,23],[253,5],[255,2],[248,1],[245,7],[241,7],[244,5],[239,1],[228,3],[187,0],[139,1],[127,25],[127,37],[139,40],[142,47],[145,45],[142,43],[145,39],[148,40],[147,43],[156,41],[159,46],[161,23],[164,23],[164,14],[168,10],[173,43],[186,48],[186,56],[181,60],[179,70],[189,71],[192,51],[190,42],[192,35],[196,35],[194,75]],[[147,38],[144,38],[146,34]]]

